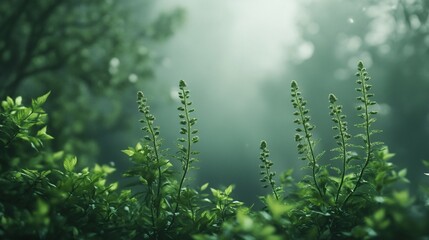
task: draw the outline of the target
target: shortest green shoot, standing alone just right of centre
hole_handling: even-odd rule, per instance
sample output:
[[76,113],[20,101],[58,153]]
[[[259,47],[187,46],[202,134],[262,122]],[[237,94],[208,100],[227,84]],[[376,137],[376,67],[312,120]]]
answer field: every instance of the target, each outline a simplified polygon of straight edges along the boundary
[[266,141],[261,142],[260,149],[261,149],[261,154],[260,154],[259,160],[261,160],[261,165],[259,165],[259,167],[262,169],[261,170],[262,178],[260,180],[262,184],[264,184],[263,188],[267,188],[268,186],[270,186],[271,190],[273,191],[274,197],[276,198],[276,200],[279,200],[281,188],[276,187],[276,182],[273,179],[276,173],[271,171],[273,162],[268,159],[268,157],[270,156],[270,151],[267,148]]

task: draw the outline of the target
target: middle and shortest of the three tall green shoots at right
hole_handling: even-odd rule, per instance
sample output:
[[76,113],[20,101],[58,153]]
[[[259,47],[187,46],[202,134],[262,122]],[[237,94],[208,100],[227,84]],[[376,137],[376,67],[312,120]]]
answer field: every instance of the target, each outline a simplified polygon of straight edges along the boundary
[[332,117],[332,121],[335,123],[335,126],[332,127],[332,129],[338,132],[338,134],[334,136],[338,147],[334,148],[333,151],[339,152],[339,155],[336,158],[342,160],[341,179],[335,196],[335,203],[337,203],[341,188],[344,184],[347,166],[347,148],[350,147],[348,141],[350,140],[351,135],[347,133],[347,122],[345,121],[346,115],[342,114],[343,106],[336,103],[337,97],[334,94],[329,94],[329,102],[329,109],[331,110],[330,115]]

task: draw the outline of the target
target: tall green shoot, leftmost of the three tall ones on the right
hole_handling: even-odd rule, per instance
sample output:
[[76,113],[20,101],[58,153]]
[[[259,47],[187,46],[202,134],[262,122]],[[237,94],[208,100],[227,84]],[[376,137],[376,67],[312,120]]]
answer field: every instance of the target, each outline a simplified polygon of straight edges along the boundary
[[311,133],[315,126],[310,123],[309,110],[306,108],[307,101],[303,99],[301,92],[298,90],[298,83],[296,81],[292,81],[291,102],[293,108],[296,110],[293,113],[293,115],[296,116],[294,123],[299,125],[299,127],[296,128],[297,133],[295,135],[295,141],[298,144],[298,153],[303,156],[302,160],[308,160],[310,162],[314,186],[316,187],[320,197],[323,198],[322,190],[317,182],[317,160],[319,160],[320,155],[316,156],[314,152],[315,142],[313,141],[313,135]]

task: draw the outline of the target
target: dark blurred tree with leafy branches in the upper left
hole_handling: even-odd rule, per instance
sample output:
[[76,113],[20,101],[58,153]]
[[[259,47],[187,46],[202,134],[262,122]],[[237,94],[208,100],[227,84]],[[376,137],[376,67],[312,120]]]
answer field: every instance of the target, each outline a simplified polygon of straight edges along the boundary
[[53,147],[95,156],[94,138],[124,123],[119,93],[153,77],[151,49],[184,18],[180,8],[153,9],[145,0],[0,1],[0,97],[52,90]]

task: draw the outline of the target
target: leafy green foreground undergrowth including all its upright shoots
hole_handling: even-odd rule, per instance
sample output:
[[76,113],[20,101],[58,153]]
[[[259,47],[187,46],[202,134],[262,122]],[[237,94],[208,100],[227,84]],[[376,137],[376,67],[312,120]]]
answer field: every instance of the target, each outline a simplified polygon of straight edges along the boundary
[[[49,94],[32,101],[7,98],[0,109],[1,239],[423,239],[429,237],[429,188],[420,201],[394,183],[408,180],[396,171],[393,154],[374,140],[376,111],[363,63],[357,72],[360,122],[346,121],[343,107],[330,94],[336,156],[318,152],[315,126],[296,81],[291,83],[297,124],[295,141],[308,163],[301,181],[292,171],[277,179],[266,141],[261,142],[262,210],[231,197],[224,189],[189,187],[197,161],[197,119],[184,81],[179,84],[180,136],[169,159],[147,99],[138,93],[141,142],[123,152],[133,166],[118,188],[107,180],[112,165],[75,169],[77,159],[63,152],[41,151],[52,137],[41,108]],[[354,133],[356,132],[356,133]],[[352,134],[353,133],[353,134]],[[59,164],[59,162],[62,162]],[[429,162],[425,162],[429,166]],[[174,167],[176,165],[177,167]],[[132,190],[131,190],[132,189]]]

